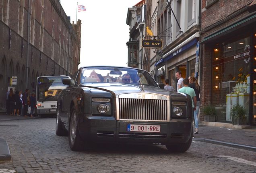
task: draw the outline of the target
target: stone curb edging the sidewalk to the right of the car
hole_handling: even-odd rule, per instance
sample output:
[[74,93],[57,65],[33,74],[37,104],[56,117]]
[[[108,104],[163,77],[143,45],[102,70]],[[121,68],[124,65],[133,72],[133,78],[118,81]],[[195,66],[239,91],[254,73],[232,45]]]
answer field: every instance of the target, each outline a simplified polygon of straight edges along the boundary
[[206,142],[206,143],[212,143],[212,144],[217,144],[217,145],[225,145],[227,147],[233,147],[233,148],[238,148],[238,149],[245,149],[249,151],[254,151],[256,152],[256,147],[248,146],[248,145],[241,145],[241,144],[235,144],[235,143],[227,143],[223,141],[216,141],[213,139],[206,139],[206,138],[193,138],[194,141],[200,141],[200,142]]

